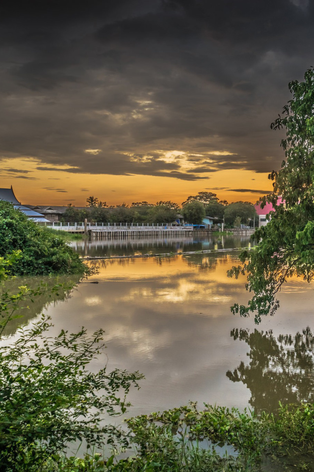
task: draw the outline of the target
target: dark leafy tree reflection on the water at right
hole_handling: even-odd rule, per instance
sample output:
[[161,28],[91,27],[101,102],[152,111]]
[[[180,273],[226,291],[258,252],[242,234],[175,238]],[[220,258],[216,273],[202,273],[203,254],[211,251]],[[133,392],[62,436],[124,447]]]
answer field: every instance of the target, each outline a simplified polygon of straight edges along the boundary
[[313,401],[314,336],[309,327],[302,333],[280,335],[272,331],[233,329],[234,340],[250,348],[248,365],[243,361],[226,373],[232,382],[242,382],[251,391],[250,405],[256,413],[274,412],[283,404]]

